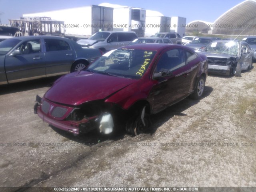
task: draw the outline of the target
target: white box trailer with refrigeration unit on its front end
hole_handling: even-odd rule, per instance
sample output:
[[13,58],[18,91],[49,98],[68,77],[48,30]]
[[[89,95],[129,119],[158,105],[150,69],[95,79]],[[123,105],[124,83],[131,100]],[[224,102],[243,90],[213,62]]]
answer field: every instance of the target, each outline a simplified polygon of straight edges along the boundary
[[102,3],[100,6],[112,7],[113,30],[134,31],[139,37],[144,37],[146,9]]

